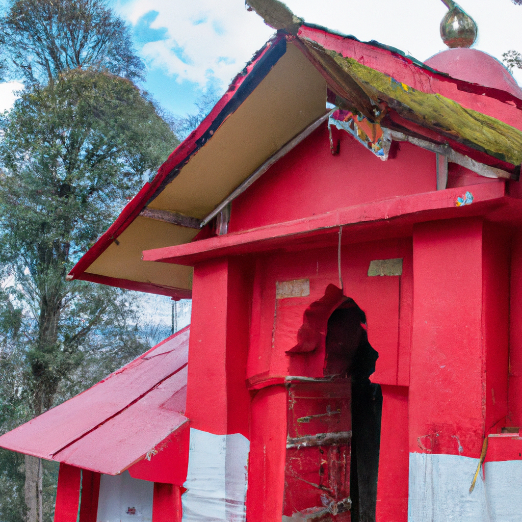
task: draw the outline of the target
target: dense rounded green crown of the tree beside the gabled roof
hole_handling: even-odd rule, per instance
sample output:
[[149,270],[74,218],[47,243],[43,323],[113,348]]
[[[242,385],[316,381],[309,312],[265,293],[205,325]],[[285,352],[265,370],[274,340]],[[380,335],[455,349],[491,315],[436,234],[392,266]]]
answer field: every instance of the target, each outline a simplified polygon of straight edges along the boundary
[[42,248],[60,260],[85,252],[177,144],[130,81],[91,70],[22,92],[0,128],[0,205],[2,225],[14,235],[10,254],[22,251],[44,279],[53,256]]

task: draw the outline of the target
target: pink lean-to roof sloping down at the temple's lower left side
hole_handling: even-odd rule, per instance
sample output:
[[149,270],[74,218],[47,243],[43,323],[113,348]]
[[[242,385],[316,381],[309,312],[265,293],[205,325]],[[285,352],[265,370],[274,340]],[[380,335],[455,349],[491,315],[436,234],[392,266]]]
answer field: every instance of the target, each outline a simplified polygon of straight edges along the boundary
[[[118,474],[188,421],[189,328],[0,437],[15,452]],[[149,453],[150,456],[150,453]]]

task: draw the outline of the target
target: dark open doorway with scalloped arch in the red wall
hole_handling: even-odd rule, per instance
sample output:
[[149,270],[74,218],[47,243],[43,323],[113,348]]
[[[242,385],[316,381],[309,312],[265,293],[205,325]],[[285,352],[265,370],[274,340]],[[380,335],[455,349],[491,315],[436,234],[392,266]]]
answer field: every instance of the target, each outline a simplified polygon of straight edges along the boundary
[[345,301],[328,319],[324,373],[351,378],[351,522],[375,522],[383,396],[370,375],[378,356],[368,342],[364,312]]

